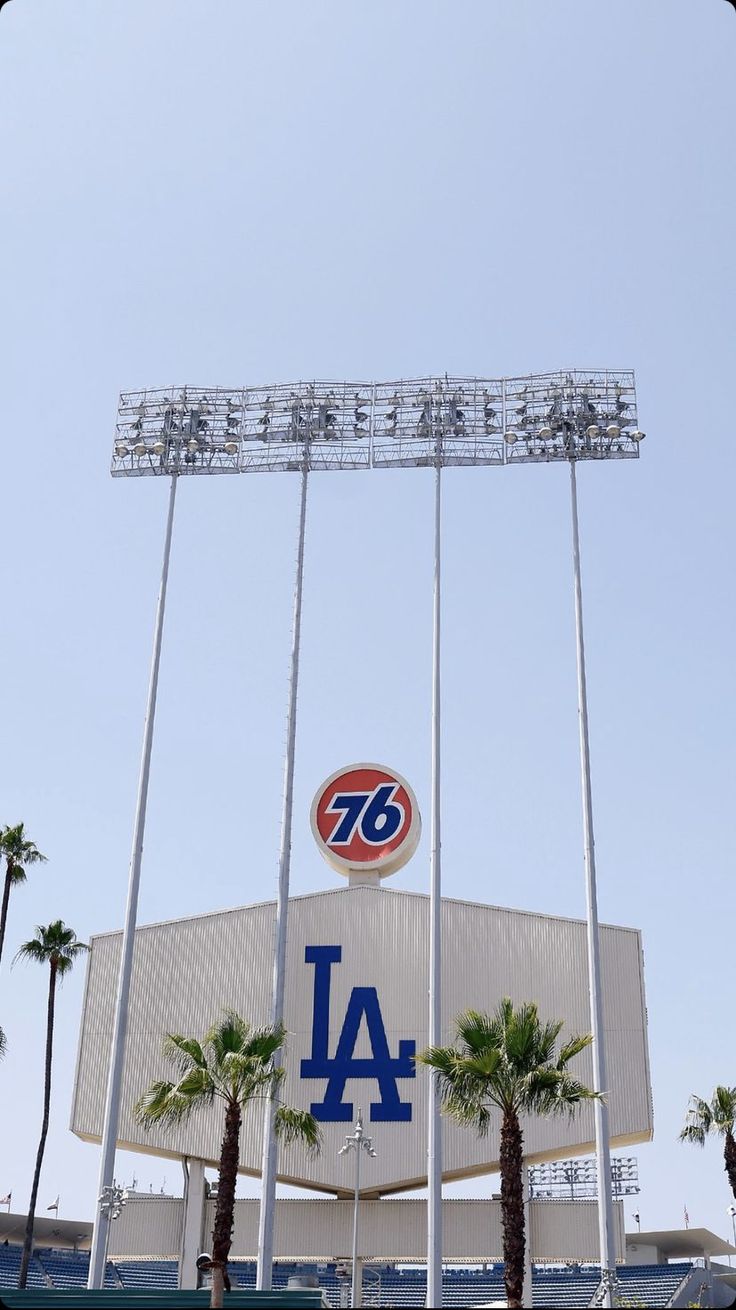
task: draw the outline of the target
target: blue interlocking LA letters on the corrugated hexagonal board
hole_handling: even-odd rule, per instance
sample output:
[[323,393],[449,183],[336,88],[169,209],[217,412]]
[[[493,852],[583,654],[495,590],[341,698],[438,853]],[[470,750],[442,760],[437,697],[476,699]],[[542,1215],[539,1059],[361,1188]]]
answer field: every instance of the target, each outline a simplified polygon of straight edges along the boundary
[[[314,965],[314,1007],[312,1013],[312,1056],[301,1061],[303,1078],[326,1078],[322,1100],[312,1106],[312,1114],[322,1123],[350,1123],[354,1117],[351,1102],[343,1102],[348,1078],[375,1078],[381,1094],[371,1102],[373,1123],[410,1123],[411,1102],[402,1100],[397,1078],[414,1078],[411,1058],[416,1051],[414,1039],[399,1040],[398,1056],[392,1057],[378,993],[375,986],[354,986],[344,1014],[334,1056],[329,1055],[330,1036],[330,984],[333,964],[342,960],[342,946],[308,946],[306,964]],[[371,1060],[355,1058],[355,1045],[363,1018],[371,1040]]]

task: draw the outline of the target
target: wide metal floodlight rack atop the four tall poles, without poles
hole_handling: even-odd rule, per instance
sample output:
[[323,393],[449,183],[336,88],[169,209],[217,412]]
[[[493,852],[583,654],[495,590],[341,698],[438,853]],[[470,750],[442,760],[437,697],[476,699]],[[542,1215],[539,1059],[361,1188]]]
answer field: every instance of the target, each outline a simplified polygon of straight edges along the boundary
[[635,458],[631,372],[123,392],[113,474]]

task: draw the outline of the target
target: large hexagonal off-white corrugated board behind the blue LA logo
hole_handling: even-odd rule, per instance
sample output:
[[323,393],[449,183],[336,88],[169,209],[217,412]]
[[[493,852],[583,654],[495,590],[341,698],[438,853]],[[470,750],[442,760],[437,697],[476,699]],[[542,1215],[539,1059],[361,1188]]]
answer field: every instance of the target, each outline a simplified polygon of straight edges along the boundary
[[[537,1000],[542,1014],[566,1019],[568,1031],[589,1028],[585,926],[580,921],[496,909],[445,900],[444,1030],[460,1010],[492,1009],[503,996]],[[193,1155],[216,1162],[221,1116],[212,1110],[186,1127],[144,1133],[132,1119],[135,1099],[153,1078],[169,1077],[161,1056],[166,1031],[200,1036],[225,1007],[255,1023],[267,1022],[272,969],[275,908],[272,903],[158,924],[136,934],[128,1047],[123,1083],[120,1145],[156,1154]],[[295,897],[289,909],[285,1020],[289,1030],[285,1098],[308,1107],[321,1102],[325,1079],[303,1079],[300,1060],[310,1055],[314,965],[305,963],[306,946],[340,946],[342,962],[331,968],[329,1051],[334,1055],[354,986],[376,986],[392,1056],[398,1043],[427,1041],[426,896],[388,888],[346,887]],[[120,934],[93,938],[72,1129],[98,1140],[118,977]],[[614,1145],[646,1141],[652,1134],[646,1011],[639,934],[633,929],[601,930],[605,1027],[610,1083],[610,1124]],[[372,1055],[363,1023],[355,1056]],[[576,1061],[576,1073],[592,1078],[589,1052]],[[377,1102],[375,1079],[351,1079],[344,1100],[361,1106],[367,1132],[378,1155],[367,1161],[364,1189],[385,1192],[418,1184],[426,1176],[427,1077],[398,1079],[398,1091],[411,1103],[410,1123],[372,1123]],[[280,1174],[287,1182],[347,1193],[352,1186],[350,1159],[338,1159],[350,1123],[323,1124],[323,1149],[317,1159],[303,1150],[284,1150]],[[589,1107],[575,1120],[533,1120],[525,1124],[529,1159],[555,1158],[593,1148]],[[498,1166],[498,1127],[485,1141],[447,1123],[445,1178],[487,1172]],[[244,1125],[241,1167],[261,1167],[261,1107]]]

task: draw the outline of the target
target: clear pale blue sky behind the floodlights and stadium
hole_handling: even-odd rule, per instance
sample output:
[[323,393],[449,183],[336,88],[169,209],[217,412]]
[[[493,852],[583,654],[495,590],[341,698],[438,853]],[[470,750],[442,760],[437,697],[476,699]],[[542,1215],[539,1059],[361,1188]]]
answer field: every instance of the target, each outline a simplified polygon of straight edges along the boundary
[[[109,477],[120,388],[608,365],[636,369],[648,432],[579,477],[600,909],[646,952],[639,1209],[729,1233],[718,1149],[676,1134],[693,1089],[736,1082],[735,71],[723,0],[3,8],[0,821],[50,857],[0,976],[13,1209],[46,977],[10,955],[37,922],[123,916],[165,485]],[[566,470],[445,486],[445,888],[581,916]],[[275,891],[297,491],[181,487],[143,922]],[[343,761],[394,762],[427,810],[431,531],[430,474],[313,478],[295,891],[334,884],[308,807]],[[397,886],[427,870],[423,842]],[[83,976],[39,1195],[80,1218]]]

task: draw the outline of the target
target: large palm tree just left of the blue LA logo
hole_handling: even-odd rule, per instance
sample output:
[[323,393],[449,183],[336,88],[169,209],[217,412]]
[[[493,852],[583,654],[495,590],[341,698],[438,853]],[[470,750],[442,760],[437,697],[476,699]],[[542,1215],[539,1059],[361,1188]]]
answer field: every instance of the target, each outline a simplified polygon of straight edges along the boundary
[[[178,1069],[178,1082],[152,1082],[136,1102],[134,1114],[140,1124],[181,1124],[193,1111],[221,1100],[225,1131],[220,1149],[220,1175],[215,1227],[212,1230],[212,1306],[223,1305],[223,1288],[229,1288],[228,1256],[234,1224],[236,1182],[240,1163],[240,1129],[244,1110],[255,1100],[276,1095],[285,1069],[276,1064],[283,1052],[285,1028],[253,1028],[233,1010],[215,1023],[204,1040],[169,1034],[164,1055]],[[320,1129],[313,1115],[279,1104],[276,1133],[285,1142],[301,1141],[310,1150],[320,1148]]]

